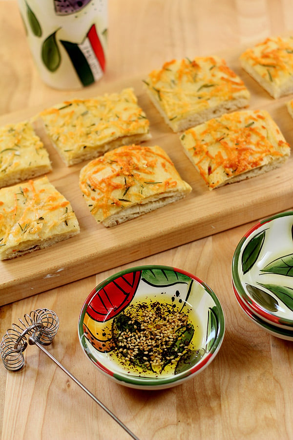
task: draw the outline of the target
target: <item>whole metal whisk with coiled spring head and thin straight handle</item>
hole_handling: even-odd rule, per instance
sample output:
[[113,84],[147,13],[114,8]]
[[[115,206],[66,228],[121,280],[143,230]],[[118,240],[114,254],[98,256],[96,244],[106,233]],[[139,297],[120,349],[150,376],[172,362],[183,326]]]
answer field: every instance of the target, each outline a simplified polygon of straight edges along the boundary
[[134,440],[139,440],[127,426],[117,418],[96,396],[94,396],[73,374],[71,374],[44,346],[50,345],[59,329],[59,318],[53,310],[39,308],[19,318],[18,324],[12,324],[0,342],[2,362],[9,371],[19,371],[24,366],[23,352],[27,345],[37,345],[52,359],[64,373],[79,385],[88,396],[98,403]]

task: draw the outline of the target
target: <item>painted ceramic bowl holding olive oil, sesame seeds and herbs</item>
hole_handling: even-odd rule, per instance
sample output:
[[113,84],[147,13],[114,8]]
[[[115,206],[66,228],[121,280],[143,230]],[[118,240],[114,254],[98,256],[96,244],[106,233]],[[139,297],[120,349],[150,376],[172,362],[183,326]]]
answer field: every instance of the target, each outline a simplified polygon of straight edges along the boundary
[[200,373],[222,344],[221,304],[203,281],[169,266],[132,267],[96,286],[79,317],[88,359],[119,384],[173,387]]

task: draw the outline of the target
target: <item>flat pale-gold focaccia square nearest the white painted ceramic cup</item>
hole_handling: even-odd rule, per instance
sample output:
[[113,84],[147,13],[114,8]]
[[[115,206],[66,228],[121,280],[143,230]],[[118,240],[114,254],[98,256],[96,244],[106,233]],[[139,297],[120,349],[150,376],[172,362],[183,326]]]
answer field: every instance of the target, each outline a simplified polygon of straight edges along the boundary
[[74,99],[39,113],[67,166],[128,143],[150,139],[149,121],[132,88],[92,99]]

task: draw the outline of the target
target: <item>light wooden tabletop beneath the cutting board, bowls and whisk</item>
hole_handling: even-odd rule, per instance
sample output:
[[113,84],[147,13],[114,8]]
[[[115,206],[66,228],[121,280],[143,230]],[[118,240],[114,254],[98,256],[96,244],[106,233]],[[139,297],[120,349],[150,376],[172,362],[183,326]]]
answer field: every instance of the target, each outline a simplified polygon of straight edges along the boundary
[[[220,53],[293,29],[293,4],[275,0],[109,0],[103,84],[145,75],[164,61]],[[59,102],[33,66],[14,0],[0,1],[0,114]],[[117,270],[53,288],[0,308],[0,335],[24,313],[53,309],[60,330],[50,352],[141,440],[292,439],[293,347],[259,330],[234,299],[233,251],[252,223],[134,262],[181,267],[216,292],[226,334],[216,359],[184,385],[142,392],[113,383],[85,359],[77,335],[88,293]],[[128,439],[98,405],[36,347],[26,366],[0,366],[1,440]]]

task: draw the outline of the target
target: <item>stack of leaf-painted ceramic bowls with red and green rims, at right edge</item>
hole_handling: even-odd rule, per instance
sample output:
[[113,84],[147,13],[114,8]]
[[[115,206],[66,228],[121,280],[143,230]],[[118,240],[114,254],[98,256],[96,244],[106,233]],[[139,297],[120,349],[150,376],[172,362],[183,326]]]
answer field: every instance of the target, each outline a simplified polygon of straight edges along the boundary
[[293,341],[293,212],[253,226],[232,260],[234,294],[263,330]]

